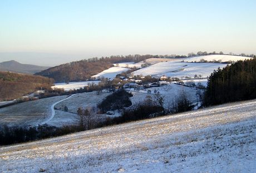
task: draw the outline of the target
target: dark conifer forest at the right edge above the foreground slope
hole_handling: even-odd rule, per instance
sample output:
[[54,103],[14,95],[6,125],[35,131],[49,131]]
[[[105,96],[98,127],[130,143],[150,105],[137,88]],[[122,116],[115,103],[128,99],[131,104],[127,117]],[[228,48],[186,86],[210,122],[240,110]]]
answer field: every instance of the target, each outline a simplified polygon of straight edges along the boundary
[[211,73],[205,91],[204,104],[256,98],[256,59],[238,61]]

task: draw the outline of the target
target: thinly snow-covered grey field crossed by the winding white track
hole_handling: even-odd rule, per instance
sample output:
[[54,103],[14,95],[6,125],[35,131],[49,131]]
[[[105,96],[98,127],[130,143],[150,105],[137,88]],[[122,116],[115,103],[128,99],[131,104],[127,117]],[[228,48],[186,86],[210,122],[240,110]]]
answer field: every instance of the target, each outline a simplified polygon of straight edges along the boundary
[[[85,92],[72,97],[56,96],[40,100],[18,103],[16,105],[0,108],[0,125],[8,126],[36,126],[47,123],[51,126],[77,125],[78,107],[97,107],[110,93]],[[68,98],[67,98],[68,97]],[[67,106],[68,112],[63,111]],[[54,110],[53,107],[57,108]],[[102,116],[102,115],[99,115]]]

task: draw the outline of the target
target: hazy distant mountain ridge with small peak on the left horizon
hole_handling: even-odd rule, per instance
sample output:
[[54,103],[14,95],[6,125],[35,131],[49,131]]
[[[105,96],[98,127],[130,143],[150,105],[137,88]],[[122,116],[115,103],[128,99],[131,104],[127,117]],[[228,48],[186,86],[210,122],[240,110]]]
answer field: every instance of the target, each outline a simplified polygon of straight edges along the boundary
[[50,67],[22,64],[17,61],[5,61],[0,63],[0,71],[9,71],[24,74],[34,74]]

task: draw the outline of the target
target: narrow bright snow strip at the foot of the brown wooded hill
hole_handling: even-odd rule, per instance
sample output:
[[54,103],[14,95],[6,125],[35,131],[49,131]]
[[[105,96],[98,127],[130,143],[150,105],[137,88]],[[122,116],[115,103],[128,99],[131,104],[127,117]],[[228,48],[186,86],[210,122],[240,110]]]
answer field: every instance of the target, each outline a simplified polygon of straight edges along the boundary
[[62,83],[55,83],[55,86],[52,88],[63,88],[65,91],[69,90],[78,90],[79,88],[83,88],[88,85],[98,84],[100,81],[82,81],[82,82],[70,82],[66,84],[65,82]]

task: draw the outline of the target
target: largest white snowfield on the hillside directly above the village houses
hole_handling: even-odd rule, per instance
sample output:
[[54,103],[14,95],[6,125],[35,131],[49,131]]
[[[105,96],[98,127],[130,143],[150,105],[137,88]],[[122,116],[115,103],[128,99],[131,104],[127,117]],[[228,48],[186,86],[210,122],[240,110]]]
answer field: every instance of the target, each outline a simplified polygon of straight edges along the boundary
[[155,65],[141,68],[134,71],[134,75],[154,77],[161,77],[163,75],[168,77],[185,78],[185,76],[194,78],[195,75],[202,77],[210,76],[210,74],[218,67],[223,68],[227,65],[222,63],[191,63],[191,62],[160,62]]

